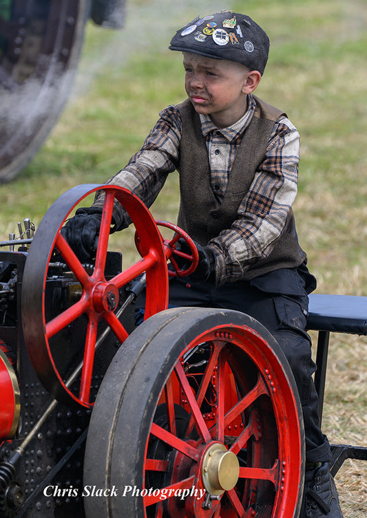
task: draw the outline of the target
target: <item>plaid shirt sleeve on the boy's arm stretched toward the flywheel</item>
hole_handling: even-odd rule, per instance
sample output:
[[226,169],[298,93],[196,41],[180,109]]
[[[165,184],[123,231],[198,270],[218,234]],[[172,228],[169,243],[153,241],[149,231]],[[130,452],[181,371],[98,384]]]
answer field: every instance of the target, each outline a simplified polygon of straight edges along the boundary
[[[140,151],[107,184],[129,189],[150,207],[165,184],[167,175],[177,169],[181,134],[180,112],[176,106],[169,106],[160,112],[158,122],[149,132]],[[102,205],[103,196],[94,202],[94,206]],[[116,219],[123,221],[116,230],[131,223],[120,204],[115,204],[114,215],[118,215]]]

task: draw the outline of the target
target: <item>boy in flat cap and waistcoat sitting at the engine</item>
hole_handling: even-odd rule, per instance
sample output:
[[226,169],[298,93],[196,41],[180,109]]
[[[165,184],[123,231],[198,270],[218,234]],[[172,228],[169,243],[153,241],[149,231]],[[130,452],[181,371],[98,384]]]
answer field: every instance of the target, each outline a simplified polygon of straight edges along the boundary
[[[295,231],[299,135],[286,114],[253,95],[269,38],[251,18],[217,12],[176,32],[187,100],[169,106],[125,169],[109,183],[151,206],[167,175],[180,173],[178,226],[196,241],[200,261],[189,279],[170,283],[171,305],[224,307],[250,314],[275,336],[293,369],[306,433],[303,518],[342,518],[331,451],[317,415],[311,341],[305,332],[315,279]],[[88,258],[101,200],[65,226]],[[114,230],[129,219],[114,209]],[[83,257],[81,257],[83,259]]]

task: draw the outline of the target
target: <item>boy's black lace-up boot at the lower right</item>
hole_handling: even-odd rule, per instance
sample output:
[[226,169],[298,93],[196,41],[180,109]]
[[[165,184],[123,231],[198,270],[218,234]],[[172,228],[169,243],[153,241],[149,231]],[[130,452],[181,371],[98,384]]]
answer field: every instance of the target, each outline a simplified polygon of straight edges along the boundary
[[343,518],[327,462],[319,462],[306,469],[300,518]]

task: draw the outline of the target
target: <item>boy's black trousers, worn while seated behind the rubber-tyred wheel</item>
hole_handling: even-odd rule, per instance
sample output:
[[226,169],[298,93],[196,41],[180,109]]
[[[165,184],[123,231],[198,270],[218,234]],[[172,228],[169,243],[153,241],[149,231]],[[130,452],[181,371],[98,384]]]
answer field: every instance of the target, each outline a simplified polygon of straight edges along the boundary
[[227,283],[219,288],[209,283],[193,283],[189,278],[172,279],[169,305],[222,307],[244,312],[262,323],[282,347],[297,383],[304,417],[306,462],[330,462],[330,444],[320,429],[311,338],[305,331],[308,284],[312,285],[312,279],[305,266],[276,270],[251,281]]

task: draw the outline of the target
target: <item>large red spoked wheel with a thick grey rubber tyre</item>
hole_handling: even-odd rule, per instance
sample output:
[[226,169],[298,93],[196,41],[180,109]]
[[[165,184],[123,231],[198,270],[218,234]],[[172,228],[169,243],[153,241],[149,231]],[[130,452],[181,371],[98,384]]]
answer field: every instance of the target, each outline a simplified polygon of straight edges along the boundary
[[127,338],[92,411],[87,518],[296,518],[303,480],[295,381],[260,323],[174,308]]

